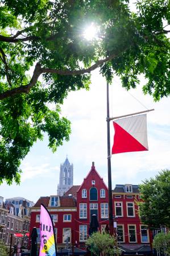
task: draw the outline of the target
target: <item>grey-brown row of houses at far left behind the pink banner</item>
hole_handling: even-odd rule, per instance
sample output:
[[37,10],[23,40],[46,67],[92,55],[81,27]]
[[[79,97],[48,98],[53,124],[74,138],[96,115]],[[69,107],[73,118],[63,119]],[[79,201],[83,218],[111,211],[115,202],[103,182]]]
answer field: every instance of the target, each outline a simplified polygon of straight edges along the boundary
[[6,199],[0,196],[0,240],[7,246],[28,246],[30,231],[30,208],[32,201],[23,197]]

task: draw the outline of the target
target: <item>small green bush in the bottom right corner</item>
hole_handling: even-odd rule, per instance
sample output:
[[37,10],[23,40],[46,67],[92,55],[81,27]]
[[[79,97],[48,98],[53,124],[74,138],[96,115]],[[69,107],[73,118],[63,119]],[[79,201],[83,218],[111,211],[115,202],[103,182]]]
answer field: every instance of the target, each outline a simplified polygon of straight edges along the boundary
[[170,232],[167,234],[161,232],[154,237],[153,247],[161,255],[170,255]]

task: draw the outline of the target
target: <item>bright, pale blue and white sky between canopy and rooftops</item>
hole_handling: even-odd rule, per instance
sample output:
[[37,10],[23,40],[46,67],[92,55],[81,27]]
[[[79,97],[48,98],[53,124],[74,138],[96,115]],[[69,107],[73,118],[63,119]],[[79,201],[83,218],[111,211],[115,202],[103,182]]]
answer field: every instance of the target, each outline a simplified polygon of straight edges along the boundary
[[[118,77],[110,85],[110,117],[155,109],[147,114],[149,151],[129,152],[111,156],[112,186],[115,184],[140,184],[154,177],[160,170],[170,170],[170,98],[154,102],[144,96],[140,85],[127,92]],[[62,106],[62,115],[72,123],[69,142],[64,142],[54,154],[48,148],[48,138],[38,141],[22,162],[20,185],[2,184],[0,196],[21,196],[36,201],[40,196],[56,195],[60,164],[68,155],[73,163],[73,184],[80,185],[88,174],[92,162],[107,184],[107,127],[106,81],[99,70],[92,72],[90,90],[70,92]],[[113,123],[110,122],[110,142],[113,144]]]

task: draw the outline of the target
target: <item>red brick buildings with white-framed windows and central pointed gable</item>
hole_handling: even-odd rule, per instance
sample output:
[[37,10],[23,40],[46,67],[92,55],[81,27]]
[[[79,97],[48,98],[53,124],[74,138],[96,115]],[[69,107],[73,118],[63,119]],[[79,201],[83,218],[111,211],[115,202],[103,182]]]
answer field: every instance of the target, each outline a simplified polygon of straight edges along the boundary
[[[147,227],[140,223],[138,206],[140,200],[138,185],[116,185],[113,190],[114,221],[117,222],[117,240],[123,251],[137,252],[148,250],[149,234]],[[43,203],[51,213],[55,224],[57,250],[72,243],[85,249],[89,234],[90,218],[96,214],[99,230],[109,224],[108,189],[99,176],[94,163],[81,185],[73,185],[64,196],[40,197],[31,209],[30,232],[38,228],[40,204]]]

